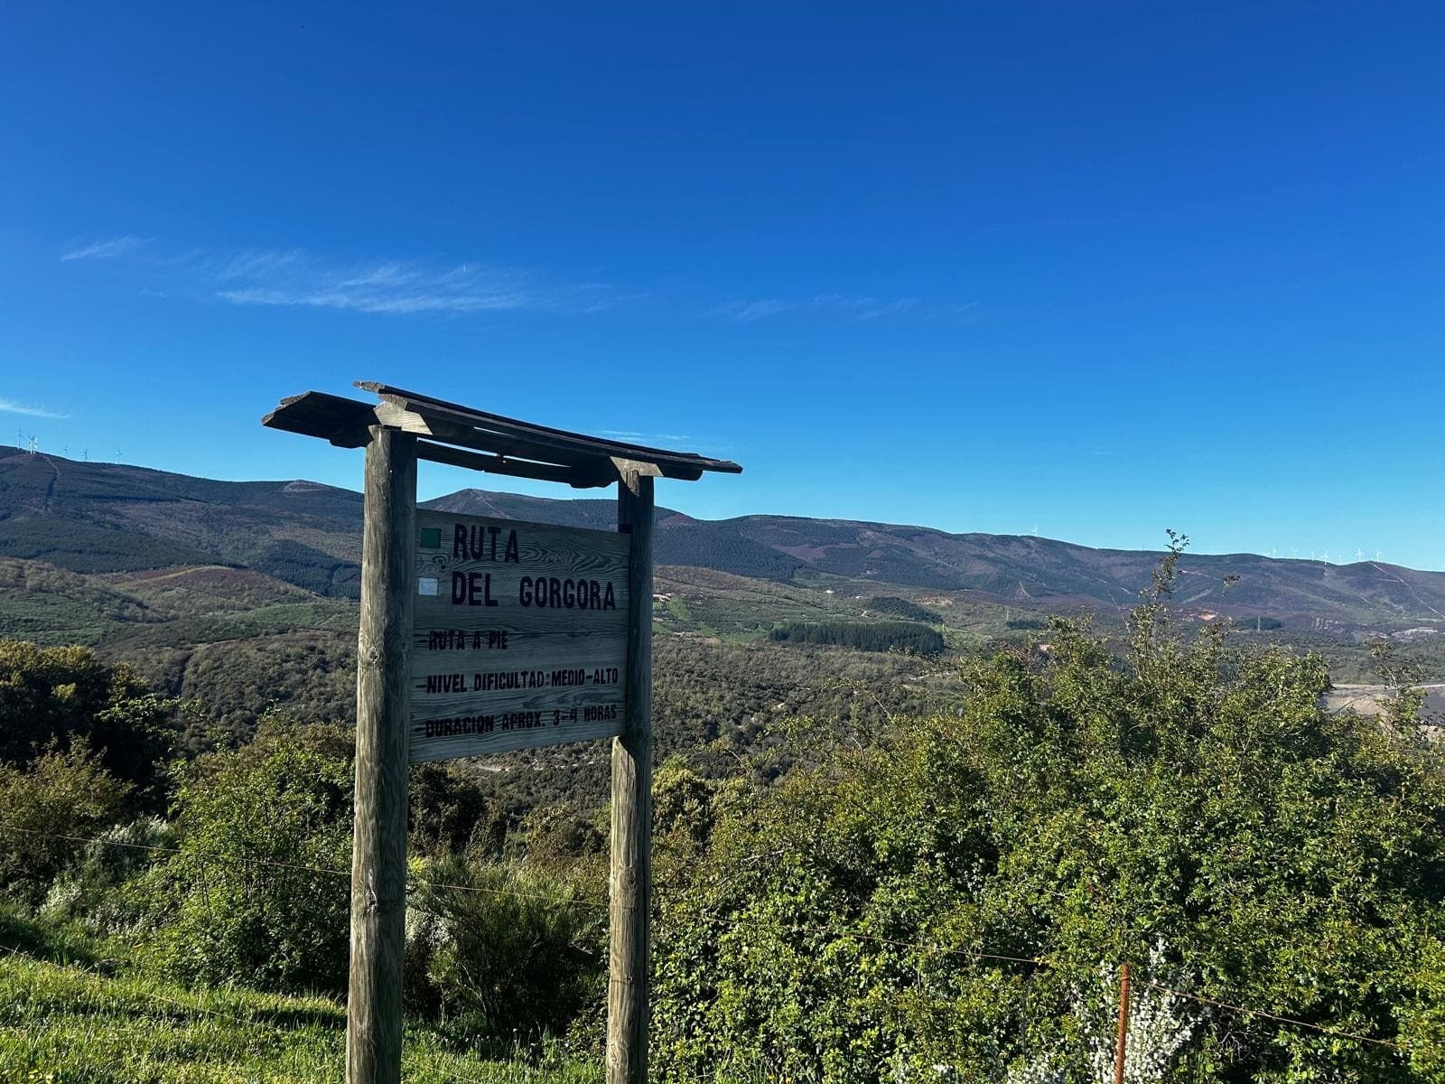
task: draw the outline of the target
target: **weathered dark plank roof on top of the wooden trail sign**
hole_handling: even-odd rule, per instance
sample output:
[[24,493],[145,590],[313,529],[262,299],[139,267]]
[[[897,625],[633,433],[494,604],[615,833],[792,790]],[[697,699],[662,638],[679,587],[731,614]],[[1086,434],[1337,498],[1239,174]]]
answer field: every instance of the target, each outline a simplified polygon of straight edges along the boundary
[[[432,463],[510,474],[519,478],[565,481],[578,489],[610,486],[621,467],[642,467],[644,474],[695,481],[704,471],[737,474],[730,460],[709,460],[694,452],[647,448],[601,436],[519,422],[445,399],[407,392],[370,380],[357,387],[376,392],[379,403],[364,403],[325,392],[282,399],[262,419],[272,429],[319,436],[341,448],[360,448],[373,425],[413,432],[416,454]],[[650,468],[650,470],[647,470]]]

